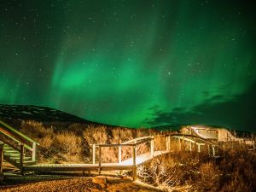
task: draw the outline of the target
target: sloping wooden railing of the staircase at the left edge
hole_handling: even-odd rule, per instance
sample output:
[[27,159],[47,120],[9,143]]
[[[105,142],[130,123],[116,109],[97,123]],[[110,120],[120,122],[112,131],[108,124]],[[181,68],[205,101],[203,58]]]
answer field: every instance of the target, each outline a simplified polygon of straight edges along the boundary
[[20,131],[15,130],[12,126],[0,119],[0,133],[3,143],[9,144],[11,147],[20,151],[20,166],[24,162],[24,151],[28,150],[32,153],[32,161],[37,161],[37,146],[39,143],[27,137]]

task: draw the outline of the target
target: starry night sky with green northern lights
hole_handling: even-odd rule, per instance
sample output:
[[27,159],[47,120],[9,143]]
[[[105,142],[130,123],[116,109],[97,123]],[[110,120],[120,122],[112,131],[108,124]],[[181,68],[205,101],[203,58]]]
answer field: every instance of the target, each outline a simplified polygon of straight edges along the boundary
[[255,131],[255,10],[254,0],[2,0],[0,103]]

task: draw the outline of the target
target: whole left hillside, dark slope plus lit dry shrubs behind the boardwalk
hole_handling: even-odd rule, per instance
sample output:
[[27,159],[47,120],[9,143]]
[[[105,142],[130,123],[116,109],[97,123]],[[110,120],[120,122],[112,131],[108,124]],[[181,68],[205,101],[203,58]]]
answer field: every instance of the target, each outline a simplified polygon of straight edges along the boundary
[[[0,105],[0,119],[40,143],[38,162],[41,163],[90,162],[93,143],[122,143],[159,132],[104,125],[38,106]],[[111,152],[102,159],[116,160],[116,149]]]

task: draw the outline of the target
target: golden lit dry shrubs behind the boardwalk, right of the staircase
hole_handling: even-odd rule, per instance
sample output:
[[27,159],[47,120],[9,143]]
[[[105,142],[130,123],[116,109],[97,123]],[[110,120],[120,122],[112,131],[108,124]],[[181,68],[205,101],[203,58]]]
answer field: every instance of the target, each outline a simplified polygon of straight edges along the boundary
[[[119,127],[82,124],[44,125],[36,121],[22,121],[20,131],[35,139],[40,163],[89,163],[92,144],[124,143],[135,137],[157,134],[153,130],[135,130]],[[137,154],[148,151],[148,144],[137,147]],[[131,158],[131,147],[122,148],[122,160]],[[96,148],[96,161],[98,160]],[[102,162],[117,162],[118,148],[102,148]]]

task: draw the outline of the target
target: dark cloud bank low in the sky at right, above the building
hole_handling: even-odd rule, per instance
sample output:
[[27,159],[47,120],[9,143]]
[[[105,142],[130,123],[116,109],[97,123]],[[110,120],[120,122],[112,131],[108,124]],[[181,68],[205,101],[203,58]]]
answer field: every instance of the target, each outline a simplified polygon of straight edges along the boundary
[[[162,112],[152,108],[153,119],[150,125],[166,124],[207,124],[221,125],[243,131],[256,131],[256,81],[247,92],[235,96],[228,102],[221,102],[223,96],[212,99],[185,111],[174,108],[172,112]],[[220,102],[218,102],[220,101]]]

